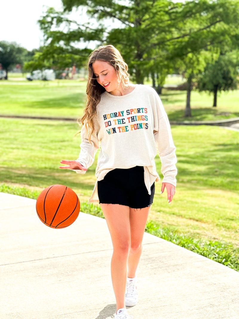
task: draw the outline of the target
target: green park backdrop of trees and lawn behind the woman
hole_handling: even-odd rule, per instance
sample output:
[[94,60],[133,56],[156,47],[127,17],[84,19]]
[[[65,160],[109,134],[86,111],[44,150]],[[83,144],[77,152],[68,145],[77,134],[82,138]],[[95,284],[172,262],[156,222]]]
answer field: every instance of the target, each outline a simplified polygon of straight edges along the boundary
[[[230,122],[205,125],[239,117],[238,8],[232,0],[104,5],[63,0],[62,10],[43,10],[39,48],[7,41],[2,33],[0,191],[36,199],[49,185],[67,185],[78,195],[81,211],[104,218],[99,204],[88,203],[99,151],[85,175],[59,166],[80,151],[76,120],[86,104],[88,57],[98,46],[112,44],[128,64],[130,82],[154,87],[173,123],[176,194],[170,205],[166,191],[160,194],[157,155],[161,180],[146,232],[238,271],[239,131]],[[45,69],[54,70],[55,80],[26,79]],[[185,121],[205,124],[182,125]]]

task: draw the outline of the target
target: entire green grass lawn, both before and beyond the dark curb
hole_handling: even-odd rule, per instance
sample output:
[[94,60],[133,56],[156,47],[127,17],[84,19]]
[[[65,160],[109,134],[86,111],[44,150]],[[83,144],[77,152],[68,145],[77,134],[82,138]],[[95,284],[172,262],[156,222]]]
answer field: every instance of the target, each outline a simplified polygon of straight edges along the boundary
[[[85,81],[70,80],[0,81],[0,114],[77,118],[85,107],[85,86]],[[238,92],[223,93],[216,111],[210,107],[212,97],[192,92],[192,119],[219,119],[215,112],[239,116]],[[181,119],[186,93],[163,90],[161,98],[169,118]],[[99,204],[87,203],[98,153],[84,175],[59,168],[62,159],[78,157],[80,134],[74,135],[80,129],[76,122],[0,118],[0,191],[36,199],[49,185],[64,184],[77,193],[82,211],[104,218]],[[239,133],[206,125],[171,125],[171,130],[178,160],[176,194],[170,205],[166,190],[160,194],[157,155],[161,181],[155,184],[146,231],[239,271]]]

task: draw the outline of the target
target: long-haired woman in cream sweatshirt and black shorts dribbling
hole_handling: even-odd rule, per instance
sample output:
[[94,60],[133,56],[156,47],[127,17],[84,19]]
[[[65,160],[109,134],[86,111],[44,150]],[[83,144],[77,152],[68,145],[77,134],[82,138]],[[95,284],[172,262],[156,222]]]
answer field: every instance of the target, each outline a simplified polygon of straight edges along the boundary
[[[129,83],[128,66],[112,45],[94,50],[88,61],[87,104],[76,160],[62,164],[85,174],[100,148],[96,183],[89,202],[98,202],[112,239],[111,277],[115,319],[130,319],[126,306],[138,301],[136,269],[155,193],[154,158],[162,162],[161,193],[175,194],[177,163],[170,124],[156,91]],[[99,145],[100,143],[100,145]]]

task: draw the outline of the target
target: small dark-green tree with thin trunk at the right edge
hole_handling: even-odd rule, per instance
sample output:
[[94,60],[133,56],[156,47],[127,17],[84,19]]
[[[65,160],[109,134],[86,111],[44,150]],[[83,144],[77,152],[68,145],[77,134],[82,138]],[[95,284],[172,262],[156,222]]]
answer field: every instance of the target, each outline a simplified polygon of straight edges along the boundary
[[208,91],[214,94],[213,106],[217,106],[218,91],[237,89],[239,75],[238,51],[220,53],[215,63],[208,63],[203,73],[198,77],[199,91]]

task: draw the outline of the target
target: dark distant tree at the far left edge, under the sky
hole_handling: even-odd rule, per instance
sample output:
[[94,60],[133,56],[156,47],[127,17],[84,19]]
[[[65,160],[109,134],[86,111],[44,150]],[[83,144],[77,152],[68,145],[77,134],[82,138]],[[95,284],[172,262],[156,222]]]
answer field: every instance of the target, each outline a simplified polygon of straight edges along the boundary
[[27,50],[16,42],[0,41],[0,63],[6,71],[5,79],[8,79],[8,71],[15,64],[23,64]]

